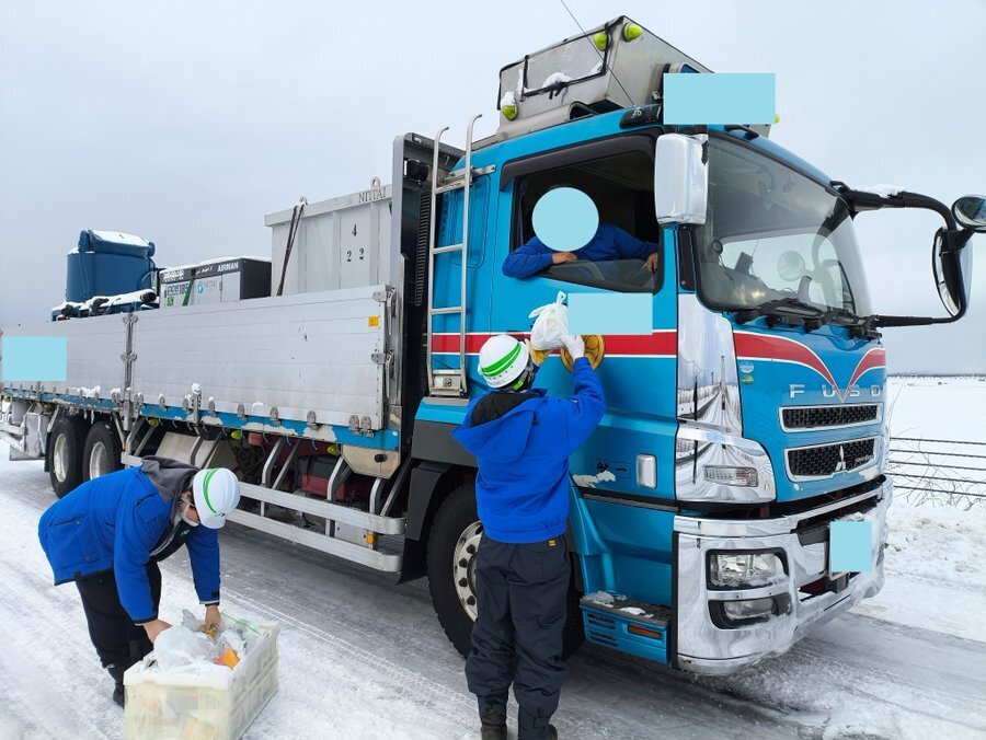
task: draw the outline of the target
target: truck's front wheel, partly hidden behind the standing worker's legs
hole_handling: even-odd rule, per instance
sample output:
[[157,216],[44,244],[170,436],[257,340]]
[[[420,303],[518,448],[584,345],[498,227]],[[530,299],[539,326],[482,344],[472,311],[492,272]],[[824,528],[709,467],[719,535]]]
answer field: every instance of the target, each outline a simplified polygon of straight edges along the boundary
[[[482,532],[475,512],[475,493],[472,484],[468,484],[452,490],[443,501],[428,534],[432,605],[446,636],[462,656],[469,655],[472,641],[472,624],[475,621],[473,568]],[[569,586],[569,615],[562,648],[565,658],[574,654],[585,639],[574,567]]]

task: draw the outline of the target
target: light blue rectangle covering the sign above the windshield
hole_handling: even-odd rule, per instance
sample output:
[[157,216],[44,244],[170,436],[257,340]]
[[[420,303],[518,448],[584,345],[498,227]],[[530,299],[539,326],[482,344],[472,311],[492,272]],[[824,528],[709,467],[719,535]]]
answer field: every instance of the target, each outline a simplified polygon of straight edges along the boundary
[[665,124],[772,124],[773,74],[664,76]]

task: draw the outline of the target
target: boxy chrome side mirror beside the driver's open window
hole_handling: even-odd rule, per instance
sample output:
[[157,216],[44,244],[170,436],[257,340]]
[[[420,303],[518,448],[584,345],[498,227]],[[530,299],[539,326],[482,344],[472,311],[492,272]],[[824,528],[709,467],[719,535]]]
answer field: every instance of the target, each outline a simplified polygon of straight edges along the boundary
[[654,208],[658,223],[706,222],[709,137],[665,134],[654,149]]

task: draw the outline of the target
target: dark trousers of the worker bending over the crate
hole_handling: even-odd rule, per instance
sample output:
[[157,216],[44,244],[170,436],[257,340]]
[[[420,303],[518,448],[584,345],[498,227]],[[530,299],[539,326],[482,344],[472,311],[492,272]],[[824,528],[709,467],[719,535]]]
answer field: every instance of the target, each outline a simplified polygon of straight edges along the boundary
[[[157,612],[161,603],[161,570],[157,563],[147,564],[147,578]],[[103,668],[126,670],[153,649],[147,632],[134,624],[127,610],[119,603],[116,577],[112,570],[81,578],[76,581],[76,586],[82,597],[89,638],[103,661]]]

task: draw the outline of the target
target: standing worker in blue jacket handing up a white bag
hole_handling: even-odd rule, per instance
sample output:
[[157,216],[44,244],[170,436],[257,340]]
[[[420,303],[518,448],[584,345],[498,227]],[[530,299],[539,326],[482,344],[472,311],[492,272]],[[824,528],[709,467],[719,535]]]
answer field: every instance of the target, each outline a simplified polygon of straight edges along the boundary
[[567,674],[569,456],[606,411],[585,343],[570,336],[565,347],[575,358],[574,395],[558,398],[531,389],[537,366],[526,344],[505,334],[491,337],[480,350],[480,372],[492,390],[469,404],[452,431],[479,462],[483,536],[466,678],[479,699],[483,740],[507,737],[511,684],[520,705],[518,737],[557,737],[549,719]]

